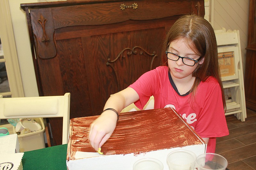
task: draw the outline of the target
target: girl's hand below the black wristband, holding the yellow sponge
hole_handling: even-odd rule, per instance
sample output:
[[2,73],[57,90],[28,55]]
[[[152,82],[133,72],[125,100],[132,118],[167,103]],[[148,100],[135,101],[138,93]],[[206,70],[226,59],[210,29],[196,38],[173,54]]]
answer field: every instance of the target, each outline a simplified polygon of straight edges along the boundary
[[89,132],[89,139],[95,151],[108,140],[116,128],[117,115],[112,110],[104,111],[100,117],[92,122]]

